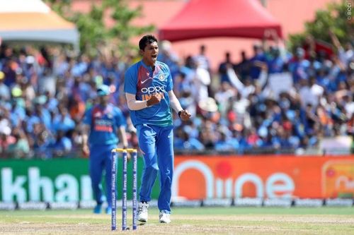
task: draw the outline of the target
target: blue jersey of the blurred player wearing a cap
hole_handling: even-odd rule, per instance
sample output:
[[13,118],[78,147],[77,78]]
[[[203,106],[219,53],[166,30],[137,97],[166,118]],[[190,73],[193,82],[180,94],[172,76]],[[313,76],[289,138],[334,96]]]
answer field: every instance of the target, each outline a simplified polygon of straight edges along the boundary
[[85,113],[84,123],[91,126],[90,145],[118,144],[118,128],[126,125],[122,112],[113,104],[108,104],[105,108],[99,104],[91,107]]

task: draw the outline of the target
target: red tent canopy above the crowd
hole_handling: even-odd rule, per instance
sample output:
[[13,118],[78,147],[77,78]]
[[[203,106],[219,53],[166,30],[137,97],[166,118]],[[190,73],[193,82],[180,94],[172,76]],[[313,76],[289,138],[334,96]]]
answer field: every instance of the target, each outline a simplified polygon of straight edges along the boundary
[[267,30],[275,30],[282,37],[280,23],[258,0],[190,0],[159,29],[159,39],[171,42],[201,37],[261,39]]

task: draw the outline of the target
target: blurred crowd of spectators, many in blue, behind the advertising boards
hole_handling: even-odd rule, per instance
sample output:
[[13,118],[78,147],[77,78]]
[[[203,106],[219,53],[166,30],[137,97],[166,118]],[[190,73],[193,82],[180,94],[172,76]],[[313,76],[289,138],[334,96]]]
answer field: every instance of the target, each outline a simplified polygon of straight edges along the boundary
[[[162,42],[174,90],[193,118],[174,115],[175,150],[264,153],[318,147],[322,138],[353,135],[354,51],[332,35],[333,48],[308,45],[287,52],[281,44],[256,44],[241,61],[225,59],[212,71],[207,48],[179,58]],[[74,157],[81,150],[81,121],[96,102],[96,88],[110,86],[111,102],[135,128],[122,92],[131,56],[72,56],[58,47],[0,47],[0,157]]]

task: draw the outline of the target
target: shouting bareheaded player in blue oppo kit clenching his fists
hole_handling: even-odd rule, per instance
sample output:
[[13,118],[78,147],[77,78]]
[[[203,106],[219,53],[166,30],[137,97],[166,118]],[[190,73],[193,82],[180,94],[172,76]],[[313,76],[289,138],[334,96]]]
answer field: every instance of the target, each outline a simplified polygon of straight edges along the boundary
[[147,222],[152,186],[159,172],[159,222],[171,222],[173,177],[173,126],[171,108],[183,121],[190,113],[183,110],[176,95],[169,67],[156,61],[159,46],[153,35],[139,41],[142,60],[125,73],[124,91],[132,123],[137,128],[139,148],[144,155],[142,186],[139,191],[138,220]]

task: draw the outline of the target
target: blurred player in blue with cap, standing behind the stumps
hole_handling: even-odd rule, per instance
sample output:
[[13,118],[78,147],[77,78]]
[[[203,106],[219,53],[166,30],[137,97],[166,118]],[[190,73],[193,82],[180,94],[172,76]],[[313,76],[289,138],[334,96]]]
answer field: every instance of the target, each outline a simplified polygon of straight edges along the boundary
[[[84,116],[84,138],[83,152],[90,156],[90,176],[93,195],[96,200],[96,207],[93,212],[101,213],[104,198],[108,207],[107,214],[112,212],[111,188],[111,150],[118,145],[118,136],[122,147],[127,147],[127,136],[125,135],[125,118],[118,107],[110,104],[110,90],[107,85],[102,85],[97,90],[99,104],[88,109]],[[105,172],[105,197],[102,193],[101,180]]]

